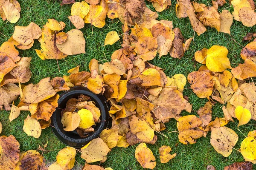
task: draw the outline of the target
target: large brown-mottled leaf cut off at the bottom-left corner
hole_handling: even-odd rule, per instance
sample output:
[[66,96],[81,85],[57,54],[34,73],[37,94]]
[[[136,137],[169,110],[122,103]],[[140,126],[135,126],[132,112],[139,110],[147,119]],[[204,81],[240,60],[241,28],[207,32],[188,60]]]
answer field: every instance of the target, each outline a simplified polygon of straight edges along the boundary
[[19,161],[20,144],[14,136],[0,136],[0,169],[15,170]]

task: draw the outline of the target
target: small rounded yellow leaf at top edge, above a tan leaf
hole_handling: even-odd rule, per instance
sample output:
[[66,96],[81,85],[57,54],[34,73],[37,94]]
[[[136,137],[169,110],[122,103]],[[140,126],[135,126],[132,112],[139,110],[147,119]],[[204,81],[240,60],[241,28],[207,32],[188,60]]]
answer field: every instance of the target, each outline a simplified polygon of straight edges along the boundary
[[77,15],[81,18],[84,18],[85,15],[88,14],[89,10],[90,10],[90,6],[88,5],[87,2],[85,1],[76,2],[71,7],[71,15]]

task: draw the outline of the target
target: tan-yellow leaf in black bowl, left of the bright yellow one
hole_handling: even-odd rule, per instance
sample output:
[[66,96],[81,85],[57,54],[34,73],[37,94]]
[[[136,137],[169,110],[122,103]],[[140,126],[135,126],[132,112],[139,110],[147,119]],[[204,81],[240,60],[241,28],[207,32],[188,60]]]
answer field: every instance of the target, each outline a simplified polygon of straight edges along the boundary
[[61,123],[64,130],[73,131],[80,124],[80,116],[78,113],[65,112],[61,118]]

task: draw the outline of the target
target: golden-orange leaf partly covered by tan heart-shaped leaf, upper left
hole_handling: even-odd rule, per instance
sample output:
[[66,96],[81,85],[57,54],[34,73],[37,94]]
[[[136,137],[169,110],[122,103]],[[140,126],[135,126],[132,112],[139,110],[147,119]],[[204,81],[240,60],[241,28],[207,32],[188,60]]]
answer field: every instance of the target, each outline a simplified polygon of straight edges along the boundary
[[41,50],[35,50],[38,56],[45,59],[64,59],[66,54],[58,50],[56,46],[56,34],[47,26],[44,26],[41,37]]

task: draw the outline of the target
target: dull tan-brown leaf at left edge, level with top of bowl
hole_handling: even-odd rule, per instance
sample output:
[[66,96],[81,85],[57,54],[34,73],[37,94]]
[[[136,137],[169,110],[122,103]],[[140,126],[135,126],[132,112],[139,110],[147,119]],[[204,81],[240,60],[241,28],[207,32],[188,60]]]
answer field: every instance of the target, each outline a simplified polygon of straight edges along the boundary
[[19,95],[19,86],[13,83],[9,83],[7,85],[0,87],[0,110],[3,110],[3,106],[6,111],[11,110],[9,104],[15,101]]

